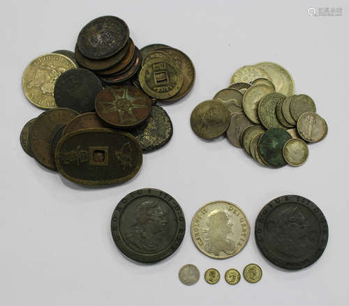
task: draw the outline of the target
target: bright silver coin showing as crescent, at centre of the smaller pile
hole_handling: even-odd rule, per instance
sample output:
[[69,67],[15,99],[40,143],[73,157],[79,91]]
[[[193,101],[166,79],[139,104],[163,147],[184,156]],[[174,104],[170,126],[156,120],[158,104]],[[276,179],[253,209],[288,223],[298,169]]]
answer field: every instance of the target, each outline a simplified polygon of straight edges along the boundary
[[242,100],[242,107],[248,119],[253,123],[260,124],[260,118],[258,116],[258,104],[268,93],[273,93],[274,89],[271,86],[265,84],[258,84],[251,86],[246,90],[244,99]]

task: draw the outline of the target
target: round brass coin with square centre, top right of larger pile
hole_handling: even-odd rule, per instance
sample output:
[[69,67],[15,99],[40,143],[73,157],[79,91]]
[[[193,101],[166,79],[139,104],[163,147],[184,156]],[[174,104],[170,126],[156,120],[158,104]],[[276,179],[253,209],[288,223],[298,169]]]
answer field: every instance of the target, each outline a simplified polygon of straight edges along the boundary
[[153,59],[144,64],[138,76],[142,89],[153,98],[168,99],[183,85],[183,73],[170,59]]

